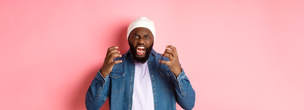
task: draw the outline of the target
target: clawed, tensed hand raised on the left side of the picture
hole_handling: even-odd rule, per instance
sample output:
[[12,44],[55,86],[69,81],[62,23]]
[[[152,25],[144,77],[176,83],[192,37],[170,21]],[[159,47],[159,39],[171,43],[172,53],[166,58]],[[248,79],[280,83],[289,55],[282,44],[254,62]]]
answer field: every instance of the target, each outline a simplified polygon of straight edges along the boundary
[[100,69],[101,75],[103,77],[106,77],[108,74],[111,73],[115,64],[122,62],[122,60],[113,61],[114,58],[121,57],[120,52],[117,49],[117,46],[108,48],[107,55],[105,56],[102,67]]

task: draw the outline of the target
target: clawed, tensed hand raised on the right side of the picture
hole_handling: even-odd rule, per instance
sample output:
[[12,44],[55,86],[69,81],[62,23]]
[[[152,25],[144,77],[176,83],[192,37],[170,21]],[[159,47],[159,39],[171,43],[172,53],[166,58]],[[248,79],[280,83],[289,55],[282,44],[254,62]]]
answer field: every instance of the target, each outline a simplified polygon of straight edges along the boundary
[[171,72],[175,75],[175,77],[177,77],[182,72],[182,67],[178,60],[176,48],[171,45],[167,45],[166,47],[167,48],[162,56],[168,57],[169,61],[159,60],[159,63],[168,65]]

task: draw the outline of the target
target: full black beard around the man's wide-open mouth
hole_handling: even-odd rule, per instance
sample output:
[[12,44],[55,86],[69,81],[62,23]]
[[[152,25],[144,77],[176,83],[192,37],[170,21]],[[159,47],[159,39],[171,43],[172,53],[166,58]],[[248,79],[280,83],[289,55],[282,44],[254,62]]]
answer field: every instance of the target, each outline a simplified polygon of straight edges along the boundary
[[137,51],[136,47],[137,47],[137,45],[134,46],[129,41],[129,46],[130,46],[131,54],[133,56],[133,60],[135,60],[135,62],[137,62],[137,63],[145,63],[148,60],[149,55],[150,55],[150,53],[152,51],[153,43],[152,43],[152,45],[150,47],[146,47],[146,50],[145,50],[146,53],[145,53],[144,57],[138,57],[137,54],[136,54],[136,51]]

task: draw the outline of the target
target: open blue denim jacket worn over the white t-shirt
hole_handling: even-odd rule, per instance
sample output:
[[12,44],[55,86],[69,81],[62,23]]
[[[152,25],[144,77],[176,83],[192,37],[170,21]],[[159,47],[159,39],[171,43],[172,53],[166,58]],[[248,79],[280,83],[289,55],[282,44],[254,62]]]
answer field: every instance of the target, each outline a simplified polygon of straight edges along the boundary
[[[114,65],[105,78],[100,71],[93,79],[85,96],[87,110],[99,110],[109,97],[111,110],[131,110],[134,84],[135,64],[130,50],[114,60],[122,63]],[[184,69],[176,78],[165,64],[159,60],[169,61],[153,49],[148,59],[148,68],[152,83],[154,110],[176,110],[176,102],[185,110],[194,107],[195,92],[186,77]]]

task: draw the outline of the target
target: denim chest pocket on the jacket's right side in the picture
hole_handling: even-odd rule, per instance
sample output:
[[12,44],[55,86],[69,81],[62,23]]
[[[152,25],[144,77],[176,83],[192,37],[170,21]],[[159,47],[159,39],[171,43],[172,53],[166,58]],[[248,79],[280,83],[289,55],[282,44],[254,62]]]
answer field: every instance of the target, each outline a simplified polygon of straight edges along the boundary
[[172,81],[172,73],[170,70],[160,70],[160,79],[162,83],[162,90],[171,91],[174,88]]

